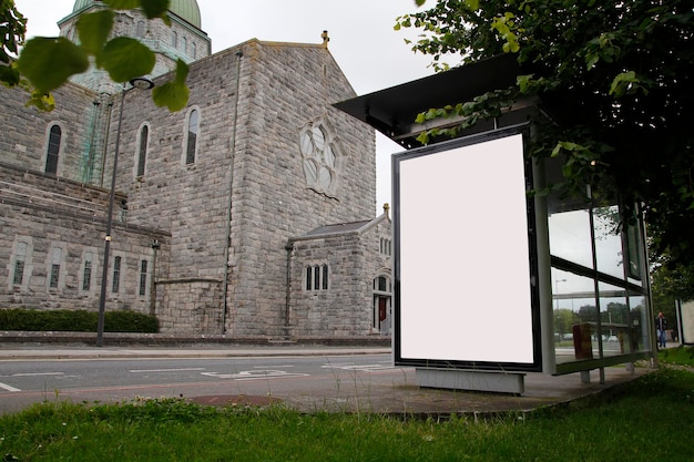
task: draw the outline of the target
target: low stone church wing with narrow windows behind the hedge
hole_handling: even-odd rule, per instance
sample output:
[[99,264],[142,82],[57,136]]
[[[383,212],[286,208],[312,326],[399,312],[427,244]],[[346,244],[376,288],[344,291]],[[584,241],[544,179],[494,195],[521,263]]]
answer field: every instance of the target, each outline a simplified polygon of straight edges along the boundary
[[[108,197],[105,189],[0,165],[0,306],[99,308]],[[120,219],[126,216],[116,216],[113,226],[106,309],[149,312],[152,243],[161,243],[159,254],[166,258],[169,235]],[[121,268],[114,291],[116,257]],[[147,268],[141,295],[143,260]],[[16,277],[18,268],[22,271]]]

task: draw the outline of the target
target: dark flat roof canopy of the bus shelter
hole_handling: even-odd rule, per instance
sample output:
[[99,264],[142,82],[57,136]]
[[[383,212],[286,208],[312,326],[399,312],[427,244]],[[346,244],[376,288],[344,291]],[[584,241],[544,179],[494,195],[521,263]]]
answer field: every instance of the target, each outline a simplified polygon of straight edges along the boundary
[[516,84],[516,54],[502,54],[473,64],[391,86],[334,106],[368,123],[392,141],[409,148],[418,146],[417,114],[472,100],[493,90]]

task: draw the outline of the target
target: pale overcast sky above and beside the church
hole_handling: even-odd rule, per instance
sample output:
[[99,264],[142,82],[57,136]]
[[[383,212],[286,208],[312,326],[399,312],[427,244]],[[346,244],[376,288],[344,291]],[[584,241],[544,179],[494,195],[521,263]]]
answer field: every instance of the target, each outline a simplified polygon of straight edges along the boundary
[[[16,4],[28,19],[28,38],[55,37],[57,22],[72,12],[74,0],[16,0]],[[249,39],[322,43],[320,34],[327,30],[328,49],[358,95],[433,73],[431,59],[415,54],[405,43],[419,32],[392,29],[396,18],[418,11],[415,0],[197,0],[197,4],[213,52]],[[376,214],[382,204],[391,204],[390,156],[401,151],[377,132]]]

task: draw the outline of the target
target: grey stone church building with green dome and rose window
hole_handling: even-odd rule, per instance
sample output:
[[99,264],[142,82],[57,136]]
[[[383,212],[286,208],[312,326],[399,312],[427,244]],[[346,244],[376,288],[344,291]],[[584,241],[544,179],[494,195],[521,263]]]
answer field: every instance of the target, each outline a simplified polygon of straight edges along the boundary
[[[99,8],[75,0],[61,35],[75,40],[75,21]],[[327,40],[211,54],[195,0],[169,14],[171,27],[119,12],[114,33],[156,51],[155,85],[190,63],[180,112],[96,69],[57,90],[52,112],[0,90],[0,309],[98,310],[106,284],[106,311],[153,314],[162,332],[388,336],[375,134],[333,106],[355,92]]]

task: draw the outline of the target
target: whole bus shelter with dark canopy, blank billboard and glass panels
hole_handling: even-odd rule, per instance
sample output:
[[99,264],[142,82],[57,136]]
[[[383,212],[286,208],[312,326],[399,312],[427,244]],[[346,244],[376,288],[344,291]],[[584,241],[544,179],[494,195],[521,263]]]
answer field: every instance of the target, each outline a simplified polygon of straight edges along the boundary
[[392,350],[422,387],[522,393],[527,372],[604,381],[605,367],[654,356],[639,205],[599,202],[591,185],[580,198],[528,194],[561,183],[560,157],[525,153],[542,130],[537,101],[455,140],[417,141],[460,122],[417,114],[509,88],[517,70],[502,55],[335,104],[404,147],[392,155]]

